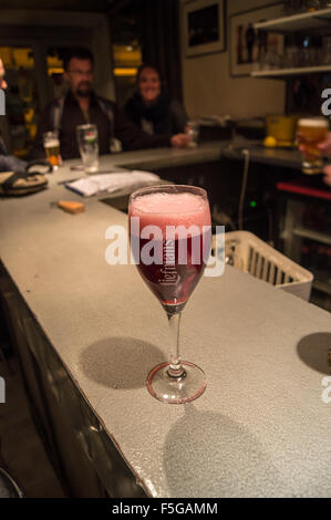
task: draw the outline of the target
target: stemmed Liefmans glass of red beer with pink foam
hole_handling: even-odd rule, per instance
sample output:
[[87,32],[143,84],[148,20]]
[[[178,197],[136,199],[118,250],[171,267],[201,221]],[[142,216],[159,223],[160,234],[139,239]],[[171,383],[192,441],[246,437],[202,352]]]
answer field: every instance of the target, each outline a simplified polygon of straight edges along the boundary
[[142,188],[131,195],[128,218],[134,262],[167,314],[174,343],[169,362],[151,371],[147,388],[164,403],[188,403],[206,388],[204,371],[182,361],[179,324],[210,254],[207,193],[195,186]]

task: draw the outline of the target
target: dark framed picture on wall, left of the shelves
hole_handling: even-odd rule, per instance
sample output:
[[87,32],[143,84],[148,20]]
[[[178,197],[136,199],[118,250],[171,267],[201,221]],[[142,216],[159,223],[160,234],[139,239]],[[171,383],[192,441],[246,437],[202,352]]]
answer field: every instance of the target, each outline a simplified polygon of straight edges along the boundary
[[192,0],[183,6],[184,52],[186,58],[223,52],[226,0]]

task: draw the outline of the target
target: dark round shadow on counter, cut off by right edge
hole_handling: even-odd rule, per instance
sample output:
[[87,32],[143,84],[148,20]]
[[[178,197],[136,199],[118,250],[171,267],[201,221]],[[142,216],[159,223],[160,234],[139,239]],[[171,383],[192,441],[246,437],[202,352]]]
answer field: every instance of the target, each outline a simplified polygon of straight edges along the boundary
[[317,332],[303,336],[297,346],[300,360],[321,374],[331,374],[331,333]]

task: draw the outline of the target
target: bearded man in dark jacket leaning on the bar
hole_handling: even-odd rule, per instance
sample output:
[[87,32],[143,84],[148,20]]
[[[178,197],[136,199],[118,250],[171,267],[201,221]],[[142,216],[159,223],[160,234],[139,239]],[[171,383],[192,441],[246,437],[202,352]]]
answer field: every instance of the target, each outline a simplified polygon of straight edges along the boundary
[[97,126],[100,154],[111,153],[114,138],[124,150],[188,145],[186,134],[152,136],[144,133],[128,122],[115,103],[97,96],[93,91],[93,55],[86,49],[73,49],[64,60],[64,71],[70,90],[42,113],[32,157],[44,157],[42,134],[54,129],[59,131],[62,158],[79,157],[76,126],[86,123]]

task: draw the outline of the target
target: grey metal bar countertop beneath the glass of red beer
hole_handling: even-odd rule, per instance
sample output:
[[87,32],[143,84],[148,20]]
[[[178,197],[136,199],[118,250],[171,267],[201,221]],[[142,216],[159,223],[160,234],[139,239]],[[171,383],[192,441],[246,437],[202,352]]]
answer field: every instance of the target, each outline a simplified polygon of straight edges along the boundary
[[[195,152],[116,164],[151,170],[165,153],[172,163]],[[113,157],[102,164],[115,167]],[[157,402],[145,378],[168,357],[166,316],[134,266],[105,261],[106,229],[126,226],[124,214],[97,197],[77,216],[50,205],[81,200],[58,185],[73,177],[66,165],[50,189],[0,200],[0,256],[146,492],[330,497],[330,314],[230,267],[203,278],[184,311],[182,352],[204,368],[207,389],[188,405]]]

